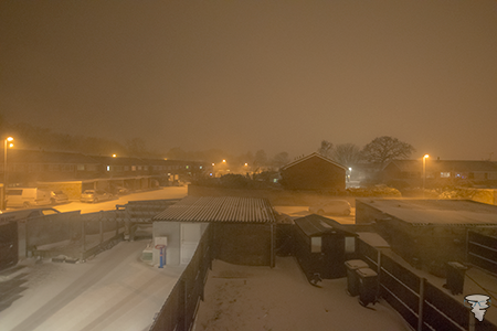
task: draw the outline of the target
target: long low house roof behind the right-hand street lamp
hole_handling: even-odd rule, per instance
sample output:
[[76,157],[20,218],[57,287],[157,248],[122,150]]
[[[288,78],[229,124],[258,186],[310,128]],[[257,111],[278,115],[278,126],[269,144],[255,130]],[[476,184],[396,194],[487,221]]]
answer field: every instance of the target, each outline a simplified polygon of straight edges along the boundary
[[[400,171],[422,171],[422,160],[393,160],[387,167],[396,167]],[[387,168],[385,167],[385,168]],[[496,162],[473,160],[426,160],[426,171],[461,171],[461,172],[497,172]]]

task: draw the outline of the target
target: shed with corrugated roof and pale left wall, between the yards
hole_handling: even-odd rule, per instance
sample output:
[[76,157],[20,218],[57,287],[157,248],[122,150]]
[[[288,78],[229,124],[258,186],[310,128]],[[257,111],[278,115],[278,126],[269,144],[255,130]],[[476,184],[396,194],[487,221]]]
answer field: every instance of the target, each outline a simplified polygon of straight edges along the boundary
[[188,263],[210,224],[214,258],[274,266],[275,212],[266,199],[187,196],[152,221],[155,241],[167,237],[168,264]]

